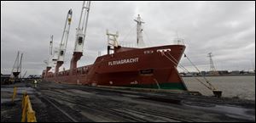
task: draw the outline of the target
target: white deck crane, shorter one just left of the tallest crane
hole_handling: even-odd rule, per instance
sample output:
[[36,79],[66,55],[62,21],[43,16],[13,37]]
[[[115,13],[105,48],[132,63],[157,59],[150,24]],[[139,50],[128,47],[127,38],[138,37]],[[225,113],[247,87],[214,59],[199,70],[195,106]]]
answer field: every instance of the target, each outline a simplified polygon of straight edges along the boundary
[[67,39],[68,39],[70,24],[71,24],[71,20],[72,20],[72,13],[73,13],[72,9],[69,9],[67,12],[67,18],[66,18],[66,22],[64,25],[64,30],[62,33],[60,48],[59,48],[59,52],[58,52],[58,59],[57,59],[56,65],[55,65],[55,74],[57,74],[59,72],[59,68],[64,63],[64,56],[65,56],[66,48],[67,48]]

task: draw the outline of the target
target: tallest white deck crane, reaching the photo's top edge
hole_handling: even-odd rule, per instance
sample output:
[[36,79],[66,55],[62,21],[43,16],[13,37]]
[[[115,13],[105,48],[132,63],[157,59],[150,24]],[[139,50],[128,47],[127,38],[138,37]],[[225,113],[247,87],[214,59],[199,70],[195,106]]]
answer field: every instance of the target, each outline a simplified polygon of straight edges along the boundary
[[87,29],[88,17],[90,10],[90,1],[84,1],[80,18],[79,27],[76,29],[76,39],[73,51],[73,58],[70,63],[70,74],[73,75],[73,70],[77,69],[77,62],[83,56],[84,38]]

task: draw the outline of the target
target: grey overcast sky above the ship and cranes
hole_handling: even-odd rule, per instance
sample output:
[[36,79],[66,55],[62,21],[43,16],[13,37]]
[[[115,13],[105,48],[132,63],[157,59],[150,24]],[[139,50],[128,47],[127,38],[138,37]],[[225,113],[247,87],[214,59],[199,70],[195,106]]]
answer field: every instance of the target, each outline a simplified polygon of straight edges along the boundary
[[[67,70],[82,3],[1,1],[1,73],[10,74],[19,50],[24,53],[22,72],[41,74],[49,57],[49,36],[54,35],[54,47],[59,46],[67,11],[72,8],[63,65]],[[178,36],[200,70],[210,69],[210,52],[217,70],[255,68],[255,2],[92,2],[84,56],[78,65],[92,64],[98,51],[107,53],[106,29],[119,31],[120,42],[135,44],[137,14],[145,21],[143,40],[148,47],[173,44]],[[195,70],[188,59],[180,64]]]

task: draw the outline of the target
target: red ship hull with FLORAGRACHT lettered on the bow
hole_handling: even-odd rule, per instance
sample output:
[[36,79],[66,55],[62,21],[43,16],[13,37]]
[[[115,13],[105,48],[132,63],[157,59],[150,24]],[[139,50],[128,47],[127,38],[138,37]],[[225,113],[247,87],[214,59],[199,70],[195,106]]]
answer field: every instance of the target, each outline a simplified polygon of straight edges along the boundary
[[[94,64],[57,74],[47,74],[45,81],[115,87],[143,87],[187,90],[177,72],[185,46],[119,48],[116,53],[98,57]],[[72,73],[72,74],[71,74]],[[43,75],[44,76],[44,73]]]

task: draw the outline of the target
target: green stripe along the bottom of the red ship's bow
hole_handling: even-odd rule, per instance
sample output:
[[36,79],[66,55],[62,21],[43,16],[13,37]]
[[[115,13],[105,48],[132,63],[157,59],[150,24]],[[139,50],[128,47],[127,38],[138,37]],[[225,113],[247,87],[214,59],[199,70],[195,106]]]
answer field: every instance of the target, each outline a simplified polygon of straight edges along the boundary
[[184,87],[182,83],[160,83],[159,86],[157,84],[131,85],[131,86],[125,86],[125,87],[156,88],[156,89],[160,87],[160,89],[186,90],[186,87]]

